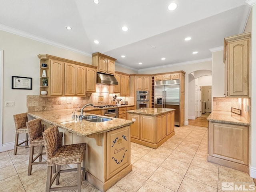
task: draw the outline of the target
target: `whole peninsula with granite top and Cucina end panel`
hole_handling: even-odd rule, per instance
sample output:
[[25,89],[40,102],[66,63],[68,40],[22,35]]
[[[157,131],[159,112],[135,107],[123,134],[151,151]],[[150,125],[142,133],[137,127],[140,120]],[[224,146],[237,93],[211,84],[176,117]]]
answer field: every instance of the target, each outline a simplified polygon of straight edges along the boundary
[[[27,112],[29,120],[40,118],[64,133],[64,144],[86,142],[86,180],[105,192],[132,171],[130,164],[130,120],[110,118],[104,122],[73,119],[74,110]],[[85,115],[90,115],[86,113]],[[98,117],[104,117],[99,116]]]

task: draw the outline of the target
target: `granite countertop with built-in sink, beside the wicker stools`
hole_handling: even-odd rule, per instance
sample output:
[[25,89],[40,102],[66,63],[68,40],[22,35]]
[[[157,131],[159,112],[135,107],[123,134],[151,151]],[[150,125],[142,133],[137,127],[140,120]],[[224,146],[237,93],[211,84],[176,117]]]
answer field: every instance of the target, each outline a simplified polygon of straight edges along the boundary
[[[100,134],[110,130],[115,130],[124,126],[128,126],[133,122],[130,120],[124,120],[119,118],[111,118],[110,121],[105,122],[88,122],[86,120],[72,119],[73,109],[60,109],[60,110],[49,110],[49,111],[39,111],[39,112],[27,112],[32,117],[40,118],[45,122],[52,125],[56,125],[64,130],[75,133],[82,137],[88,137],[95,134]],[[76,112],[79,115],[79,112]],[[85,113],[85,115],[90,115]],[[99,117],[105,117],[100,115],[95,115]],[[110,117],[106,117],[110,118]]]

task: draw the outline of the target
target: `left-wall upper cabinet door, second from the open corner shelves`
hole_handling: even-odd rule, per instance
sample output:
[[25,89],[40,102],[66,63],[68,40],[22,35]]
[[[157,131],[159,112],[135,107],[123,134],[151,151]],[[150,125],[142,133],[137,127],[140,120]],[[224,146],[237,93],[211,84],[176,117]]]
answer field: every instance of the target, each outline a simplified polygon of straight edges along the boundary
[[76,65],[65,63],[65,95],[75,95]]

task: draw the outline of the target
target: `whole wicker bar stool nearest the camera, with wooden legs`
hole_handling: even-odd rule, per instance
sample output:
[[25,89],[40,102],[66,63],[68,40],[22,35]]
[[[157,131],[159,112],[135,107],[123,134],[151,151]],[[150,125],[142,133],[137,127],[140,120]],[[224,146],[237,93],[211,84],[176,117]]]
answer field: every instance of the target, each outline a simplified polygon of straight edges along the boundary
[[[77,189],[81,192],[82,180],[85,180],[85,150],[86,143],[61,145],[60,135],[57,126],[52,126],[43,132],[44,146],[47,156],[47,181],[46,192],[55,190],[70,190]],[[81,163],[83,166],[81,168]],[[60,170],[61,165],[77,164],[77,168]],[[57,165],[56,173],[52,178],[52,166]],[[82,173],[81,173],[82,169]],[[56,179],[56,185],[59,184],[60,173],[77,171],[77,185],[76,186],[63,186],[51,187]]]

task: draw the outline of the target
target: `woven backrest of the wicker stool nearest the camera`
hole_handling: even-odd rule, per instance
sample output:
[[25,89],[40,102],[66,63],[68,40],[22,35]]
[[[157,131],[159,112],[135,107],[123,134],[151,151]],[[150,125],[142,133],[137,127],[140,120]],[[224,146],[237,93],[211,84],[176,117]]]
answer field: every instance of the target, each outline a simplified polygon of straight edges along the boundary
[[46,151],[47,160],[58,151],[61,145],[60,133],[57,126],[51,126],[43,132],[44,147]]

